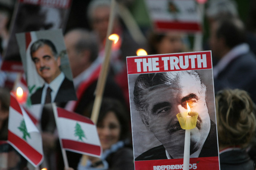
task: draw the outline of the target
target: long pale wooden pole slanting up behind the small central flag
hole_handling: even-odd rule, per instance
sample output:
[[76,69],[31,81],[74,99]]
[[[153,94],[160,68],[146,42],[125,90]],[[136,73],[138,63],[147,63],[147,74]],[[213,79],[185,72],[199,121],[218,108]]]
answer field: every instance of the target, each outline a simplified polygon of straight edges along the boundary
[[[100,105],[102,102],[102,95],[104,92],[105,82],[106,82],[107,73],[108,73],[108,69],[109,69],[111,47],[112,47],[112,43],[113,43],[112,40],[109,40],[109,36],[113,30],[113,23],[114,23],[114,19],[115,19],[115,11],[114,11],[115,6],[116,6],[115,0],[111,0],[109,25],[108,25],[108,29],[107,29],[107,37],[106,37],[106,44],[105,44],[105,57],[104,57],[104,62],[102,64],[102,67],[100,69],[100,75],[99,75],[99,79],[98,79],[96,91],[95,91],[96,96],[94,99],[94,103],[93,103],[93,107],[92,107],[92,114],[91,114],[91,120],[96,125],[97,125],[97,121],[98,121]],[[86,165],[86,161],[87,161],[87,156],[83,155],[82,160],[81,160],[82,166]]]

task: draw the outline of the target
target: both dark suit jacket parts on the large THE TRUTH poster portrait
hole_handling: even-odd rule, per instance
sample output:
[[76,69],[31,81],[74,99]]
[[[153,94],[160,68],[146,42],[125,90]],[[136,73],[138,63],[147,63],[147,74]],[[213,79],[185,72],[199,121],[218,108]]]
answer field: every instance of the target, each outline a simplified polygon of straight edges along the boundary
[[[199,157],[218,156],[216,125],[211,121],[211,129],[204,142],[204,146]],[[135,160],[156,160],[167,159],[165,148],[163,145],[156,146],[142,153]]]

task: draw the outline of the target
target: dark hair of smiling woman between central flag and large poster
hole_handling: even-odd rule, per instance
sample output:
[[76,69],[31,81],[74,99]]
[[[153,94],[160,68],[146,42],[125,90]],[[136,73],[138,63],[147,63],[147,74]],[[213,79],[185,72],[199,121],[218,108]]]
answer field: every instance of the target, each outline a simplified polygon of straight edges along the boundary
[[[84,116],[87,116],[89,118],[91,117],[92,107],[93,107],[93,103],[91,103],[87,107]],[[100,106],[97,124],[103,121],[103,119],[105,118],[105,116],[109,111],[113,111],[113,113],[115,113],[115,116],[117,116],[117,119],[120,123],[121,132],[120,132],[119,140],[126,140],[127,138],[130,137],[129,136],[130,131],[128,126],[129,119],[128,119],[127,110],[125,110],[125,106],[120,101],[112,98],[103,98]]]

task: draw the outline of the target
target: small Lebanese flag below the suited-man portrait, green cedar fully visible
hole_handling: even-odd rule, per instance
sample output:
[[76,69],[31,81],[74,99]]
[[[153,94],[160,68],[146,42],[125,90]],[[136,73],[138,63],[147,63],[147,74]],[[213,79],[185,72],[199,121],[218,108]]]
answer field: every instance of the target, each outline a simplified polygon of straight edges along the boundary
[[100,157],[97,128],[91,119],[57,107],[56,123],[63,149]]

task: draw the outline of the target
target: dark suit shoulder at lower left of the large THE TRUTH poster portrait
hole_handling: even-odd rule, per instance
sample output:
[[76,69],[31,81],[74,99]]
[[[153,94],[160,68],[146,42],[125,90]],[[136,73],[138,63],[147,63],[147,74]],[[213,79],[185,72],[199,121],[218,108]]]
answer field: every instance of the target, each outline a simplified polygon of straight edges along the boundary
[[165,148],[163,145],[156,146],[142,153],[135,160],[156,160],[156,159],[167,159]]

